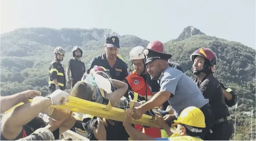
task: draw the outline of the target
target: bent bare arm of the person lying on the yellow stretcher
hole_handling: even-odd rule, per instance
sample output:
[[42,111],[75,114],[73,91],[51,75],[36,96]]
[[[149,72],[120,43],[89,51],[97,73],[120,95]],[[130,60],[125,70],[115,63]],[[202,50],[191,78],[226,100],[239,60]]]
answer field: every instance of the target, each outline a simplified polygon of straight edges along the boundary
[[113,107],[117,105],[117,102],[124,96],[128,89],[128,85],[125,82],[121,82],[119,80],[113,80],[113,79],[108,79],[111,80],[114,87],[117,88],[117,90],[113,91],[112,93],[108,94],[106,98],[110,100],[110,103]]

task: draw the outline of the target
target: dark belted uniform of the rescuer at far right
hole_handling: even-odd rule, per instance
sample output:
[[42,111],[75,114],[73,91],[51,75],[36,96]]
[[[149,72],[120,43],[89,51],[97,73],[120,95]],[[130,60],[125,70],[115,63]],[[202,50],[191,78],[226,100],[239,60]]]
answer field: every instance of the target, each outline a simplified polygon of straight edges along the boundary
[[209,99],[209,104],[213,108],[215,114],[215,124],[213,125],[213,133],[206,136],[205,140],[229,140],[234,131],[233,121],[226,107],[225,98],[222,92],[220,82],[212,75],[207,75],[199,84],[195,80],[197,86],[201,90],[204,98]]

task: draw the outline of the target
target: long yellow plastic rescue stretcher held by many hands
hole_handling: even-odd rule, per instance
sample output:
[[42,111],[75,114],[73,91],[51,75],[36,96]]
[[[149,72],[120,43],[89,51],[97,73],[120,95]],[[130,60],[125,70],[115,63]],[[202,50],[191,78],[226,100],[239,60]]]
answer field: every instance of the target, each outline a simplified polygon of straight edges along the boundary
[[[99,104],[99,103],[95,103],[87,100],[82,100],[80,98],[76,98],[72,96],[69,96],[67,99],[68,99],[68,102],[66,102],[66,105],[57,105],[57,106],[53,105],[51,107],[69,110],[69,111],[82,113],[82,114],[89,114],[91,116],[97,116],[100,118],[112,119],[115,121],[124,121],[125,110],[112,107],[110,105],[110,102],[108,105],[103,105],[103,104]],[[9,113],[14,108],[23,104],[24,103],[22,102],[22,103],[19,103],[18,105],[15,105],[14,107],[6,111],[5,114]],[[133,105],[133,103],[131,102],[130,105]],[[139,120],[132,119],[132,123],[158,127],[158,125],[156,124],[156,121],[153,120],[153,117],[145,114],[143,114],[142,118]]]

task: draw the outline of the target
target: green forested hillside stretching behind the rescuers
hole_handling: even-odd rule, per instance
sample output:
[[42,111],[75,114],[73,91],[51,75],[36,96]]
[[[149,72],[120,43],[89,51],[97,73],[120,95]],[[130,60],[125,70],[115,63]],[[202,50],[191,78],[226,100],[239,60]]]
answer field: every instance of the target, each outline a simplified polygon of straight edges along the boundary
[[[208,47],[218,57],[215,76],[238,95],[236,140],[250,139],[250,115],[254,109],[255,129],[255,50],[238,42],[207,36],[193,27],[186,27],[175,40],[165,43],[165,50],[173,55],[171,61],[181,64],[185,73],[193,78],[190,54],[201,47]],[[196,32],[193,32],[196,31]],[[193,32],[193,33],[192,33]],[[104,52],[103,43],[109,34],[119,36],[119,54],[132,68],[128,59],[132,47],[146,47],[149,41],[133,35],[120,36],[110,29],[60,29],[22,28],[1,34],[1,96],[7,96],[27,89],[40,90],[45,96],[48,89],[48,65],[53,60],[53,50],[62,46],[66,51],[64,67],[72,57],[71,49],[80,45],[84,52],[82,61],[87,64],[94,56]],[[255,132],[255,130],[254,130]],[[255,140],[255,135],[254,135]]]

